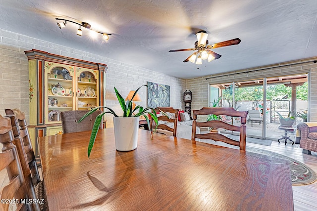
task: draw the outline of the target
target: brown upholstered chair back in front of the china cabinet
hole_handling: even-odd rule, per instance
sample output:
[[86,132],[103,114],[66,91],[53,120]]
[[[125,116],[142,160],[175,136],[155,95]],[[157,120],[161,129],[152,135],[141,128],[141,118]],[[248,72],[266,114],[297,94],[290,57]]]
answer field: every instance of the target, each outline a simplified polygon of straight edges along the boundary
[[[102,113],[101,110],[97,110],[81,123],[77,123],[80,118],[82,118],[88,111],[87,110],[77,110],[77,111],[62,111],[60,113],[61,117],[61,126],[63,128],[63,133],[70,132],[81,132],[92,130],[96,117]],[[103,128],[103,125],[100,125],[100,129]]]

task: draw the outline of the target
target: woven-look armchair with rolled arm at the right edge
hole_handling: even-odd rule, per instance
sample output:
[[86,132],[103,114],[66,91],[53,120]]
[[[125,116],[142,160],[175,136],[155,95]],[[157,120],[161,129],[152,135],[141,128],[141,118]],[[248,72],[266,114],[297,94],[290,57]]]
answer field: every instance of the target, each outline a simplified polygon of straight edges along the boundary
[[299,123],[297,129],[300,131],[299,146],[303,153],[317,152],[317,123]]

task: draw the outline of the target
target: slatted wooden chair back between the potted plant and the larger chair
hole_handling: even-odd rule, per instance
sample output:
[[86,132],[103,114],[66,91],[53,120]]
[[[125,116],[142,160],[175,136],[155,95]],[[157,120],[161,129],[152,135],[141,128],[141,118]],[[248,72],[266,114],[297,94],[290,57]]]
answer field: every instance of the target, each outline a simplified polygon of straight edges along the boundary
[[155,109],[155,111],[158,113],[158,112],[169,112],[171,114],[174,114],[175,118],[172,119],[172,118],[168,118],[166,117],[165,115],[162,115],[162,116],[159,116],[158,117],[158,120],[159,121],[167,121],[167,122],[170,122],[170,123],[174,123],[173,127],[168,127],[167,125],[165,124],[159,124],[158,126],[155,124],[155,122],[153,121],[153,119],[151,118],[151,121],[150,121],[150,126],[151,126],[151,131],[155,128],[157,129],[165,129],[165,130],[168,130],[168,131],[171,131],[173,132],[173,136],[176,136],[176,132],[177,132],[177,121],[178,121],[178,112],[179,112],[179,109],[174,109],[173,107],[157,107]]

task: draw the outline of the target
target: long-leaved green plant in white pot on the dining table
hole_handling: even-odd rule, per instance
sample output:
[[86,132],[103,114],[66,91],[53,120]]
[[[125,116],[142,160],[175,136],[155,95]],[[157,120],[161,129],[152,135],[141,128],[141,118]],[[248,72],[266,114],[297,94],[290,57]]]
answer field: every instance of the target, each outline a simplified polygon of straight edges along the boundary
[[[148,85],[142,85],[147,86]],[[132,104],[133,104],[133,98],[137,94],[138,90],[142,87],[140,86],[134,93],[131,99],[128,99],[126,103],[124,102],[124,98],[121,96],[121,94],[118,92],[118,90],[114,87],[115,94],[117,96],[117,99],[120,103],[120,106],[123,110],[123,116],[118,116],[112,109],[106,107],[106,106],[98,106],[90,110],[87,114],[85,114],[78,122],[80,123],[83,121],[87,116],[92,114],[93,112],[97,111],[99,108],[106,108],[109,111],[103,112],[99,114],[96,117],[91,136],[90,141],[88,145],[88,158],[90,157],[91,150],[94,146],[97,133],[100,127],[100,124],[103,120],[103,116],[106,113],[110,113],[113,115],[113,126],[114,126],[114,139],[115,139],[115,147],[118,151],[131,151],[137,148],[138,144],[138,128],[139,128],[139,117],[144,116],[144,118],[147,120],[147,124],[150,127],[150,121],[147,114],[149,114],[153,120],[155,121],[156,125],[158,124],[158,117],[155,112],[155,108],[147,107],[143,108],[142,106],[136,106],[132,110]],[[138,110],[138,111],[137,111]],[[136,114],[134,114],[134,112]],[[167,116],[164,112],[162,112],[163,115]],[[149,131],[152,138],[152,131]]]

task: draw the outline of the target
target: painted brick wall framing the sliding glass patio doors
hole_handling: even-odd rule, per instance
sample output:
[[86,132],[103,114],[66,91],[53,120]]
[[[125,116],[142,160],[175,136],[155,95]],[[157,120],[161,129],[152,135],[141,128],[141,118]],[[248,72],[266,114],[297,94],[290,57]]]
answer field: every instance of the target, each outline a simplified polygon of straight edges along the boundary
[[[300,73],[310,72],[311,83],[310,83],[310,122],[317,122],[317,63],[302,63],[306,61],[317,60],[315,58],[308,58],[296,61],[289,61],[281,64],[272,64],[265,67],[255,67],[251,69],[237,70],[231,73],[237,73],[230,76],[222,76],[230,73],[210,75],[195,79],[190,79],[186,81],[186,88],[193,92],[193,102],[192,109],[201,109],[202,107],[208,107],[208,89],[209,84],[221,84],[228,82],[239,82],[253,79],[261,79],[264,77],[274,77],[283,75],[296,75]],[[294,65],[292,65],[294,64]],[[265,70],[260,70],[265,69]],[[252,72],[254,70],[259,70]],[[245,73],[249,71],[249,73]],[[216,77],[206,80],[209,77]],[[206,119],[199,119],[200,121],[205,121]]]

